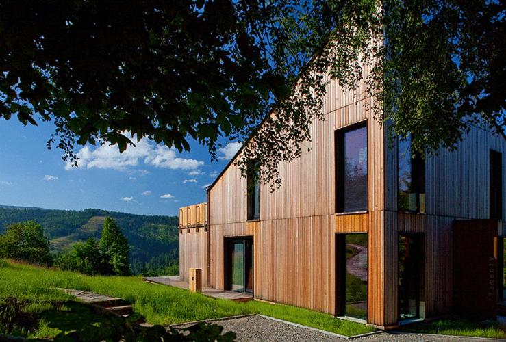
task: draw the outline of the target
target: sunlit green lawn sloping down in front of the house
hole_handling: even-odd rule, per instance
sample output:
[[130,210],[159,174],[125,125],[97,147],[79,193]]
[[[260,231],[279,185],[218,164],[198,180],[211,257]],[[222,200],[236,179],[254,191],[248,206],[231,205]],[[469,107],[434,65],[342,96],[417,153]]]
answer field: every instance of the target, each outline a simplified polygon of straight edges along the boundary
[[142,315],[151,324],[175,324],[260,313],[347,336],[375,330],[363,324],[342,321],[331,315],[294,306],[257,301],[238,303],[207,298],[204,295],[175,287],[150,285],[136,276],[84,276],[0,259],[0,300],[2,298],[23,300],[29,303],[24,310],[38,317],[38,328],[31,332],[21,331],[18,332],[19,334],[30,337],[51,337],[57,332],[48,328],[47,322],[39,317],[40,313],[47,311],[51,306],[61,305],[62,302],[71,300],[69,295],[55,290],[54,287],[88,290],[124,298],[134,305],[136,313]]

